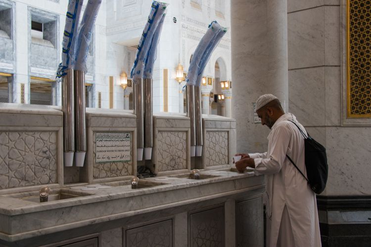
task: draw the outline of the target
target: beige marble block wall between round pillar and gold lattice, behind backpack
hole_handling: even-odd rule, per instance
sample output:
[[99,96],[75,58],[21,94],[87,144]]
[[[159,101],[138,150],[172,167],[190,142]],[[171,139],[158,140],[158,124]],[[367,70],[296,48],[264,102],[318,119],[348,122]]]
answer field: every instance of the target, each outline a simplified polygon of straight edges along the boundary
[[370,127],[345,127],[342,119],[344,2],[287,0],[289,111],[325,144],[323,195],[370,195]]

